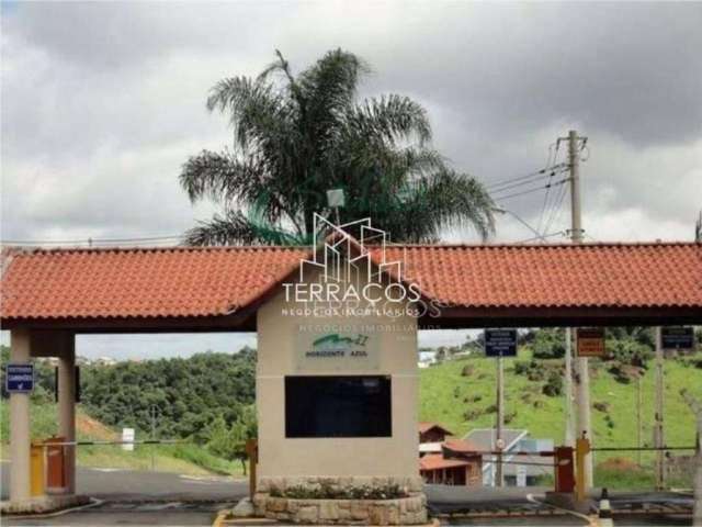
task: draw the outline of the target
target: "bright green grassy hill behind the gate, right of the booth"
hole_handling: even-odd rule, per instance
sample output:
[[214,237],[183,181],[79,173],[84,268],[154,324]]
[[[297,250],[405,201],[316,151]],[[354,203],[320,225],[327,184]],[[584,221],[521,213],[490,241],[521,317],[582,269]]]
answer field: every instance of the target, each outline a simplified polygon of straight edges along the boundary
[[[534,438],[552,438],[556,445],[564,439],[563,395],[547,396],[542,393],[545,381],[530,381],[526,375],[516,374],[514,362],[530,359],[520,354],[517,359],[505,359],[505,413],[508,428],[525,428]],[[695,360],[702,356],[695,356]],[[563,360],[545,360],[544,366],[559,367]],[[702,365],[702,360],[699,362]],[[636,446],[636,381],[618,382],[608,371],[609,363],[590,360],[590,382],[595,444],[600,447]],[[702,368],[683,363],[682,360],[666,359],[665,434],[669,446],[692,446],[695,424],[692,412],[683,402],[680,390],[687,388],[702,401]],[[464,373],[464,374],[462,374]],[[445,361],[420,370],[420,419],[437,422],[457,436],[473,428],[495,426],[496,361],[488,358],[467,358]],[[654,422],[654,369],[653,362],[642,379],[642,441],[653,444]],[[597,410],[600,408],[600,410]],[[611,463],[627,458],[638,461],[633,452],[596,455],[596,463],[609,458]],[[642,485],[650,481],[652,455],[642,457],[639,474]],[[604,470],[605,466],[601,469]],[[612,466],[615,470],[621,467]],[[602,474],[601,474],[602,475]],[[597,474],[596,474],[597,478]],[[602,475],[603,479],[604,475]],[[596,481],[596,483],[598,483]],[[603,482],[600,482],[603,484]]]

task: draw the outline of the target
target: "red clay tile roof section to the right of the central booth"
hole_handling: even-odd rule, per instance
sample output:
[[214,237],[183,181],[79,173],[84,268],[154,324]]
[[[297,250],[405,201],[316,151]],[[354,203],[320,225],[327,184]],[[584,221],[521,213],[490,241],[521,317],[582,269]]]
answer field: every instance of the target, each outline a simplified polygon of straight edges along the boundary
[[449,306],[702,306],[702,244],[408,246],[386,258]]

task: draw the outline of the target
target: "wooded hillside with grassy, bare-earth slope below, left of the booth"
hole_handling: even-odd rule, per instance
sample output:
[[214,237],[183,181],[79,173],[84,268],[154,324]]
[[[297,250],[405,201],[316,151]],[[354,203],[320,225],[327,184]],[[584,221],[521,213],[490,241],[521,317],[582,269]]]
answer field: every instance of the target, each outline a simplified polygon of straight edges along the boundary
[[[2,347],[2,372],[9,348]],[[189,474],[240,474],[244,444],[256,436],[252,410],[256,351],[196,354],[188,359],[81,366],[79,440],[118,439],[123,427],[137,439],[182,440],[182,445],[81,446],[78,461],[91,467],[150,469]],[[32,438],[57,434],[54,367],[35,361]],[[1,380],[4,388],[4,379]],[[7,397],[4,390],[3,399]],[[151,429],[151,415],[155,416]],[[7,442],[9,407],[2,404],[1,435]]]

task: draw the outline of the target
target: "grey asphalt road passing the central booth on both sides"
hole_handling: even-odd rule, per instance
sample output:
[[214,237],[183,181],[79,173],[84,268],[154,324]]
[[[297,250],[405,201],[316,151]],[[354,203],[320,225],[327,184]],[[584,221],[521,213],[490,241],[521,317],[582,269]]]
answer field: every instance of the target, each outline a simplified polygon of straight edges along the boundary
[[[9,485],[9,463],[3,462],[2,498]],[[93,508],[71,512],[47,518],[2,518],[1,525],[8,526],[98,526],[98,525],[169,525],[194,526],[212,525],[217,513],[233,506],[248,493],[244,480],[226,476],[185,476],[166,472],[148,472],[115,469],[78,468],[77,486],[79,494],[101,500],[103,503]],[[465,526],[579,526],[585,523],[574,516],[525,516],[512,518],[475,518],[461,513],[485,513],[498,511],[535,512],[547,508],[530,501],[531,494],[543,500],[546,489],[505,487],[467,489],[460,486],[427,485],[429,507],[433,514],[444,516],[444,525]],[[692,496],[678,493],[623,494],[613,493],[612,505],[615,508],[637,508],[644,503],[691,503]],[[616,526],[642,525],[691,525],[687,518],[666,516],[615,517]]]

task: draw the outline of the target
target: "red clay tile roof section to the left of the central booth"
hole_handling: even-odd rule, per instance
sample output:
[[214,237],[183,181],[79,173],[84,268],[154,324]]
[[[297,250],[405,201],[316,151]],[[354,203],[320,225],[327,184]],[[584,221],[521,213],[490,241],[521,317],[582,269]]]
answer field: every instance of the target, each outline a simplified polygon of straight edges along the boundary
[[225,315],[297,268],[301,248],[76,249],[14,254],[2,318]]

